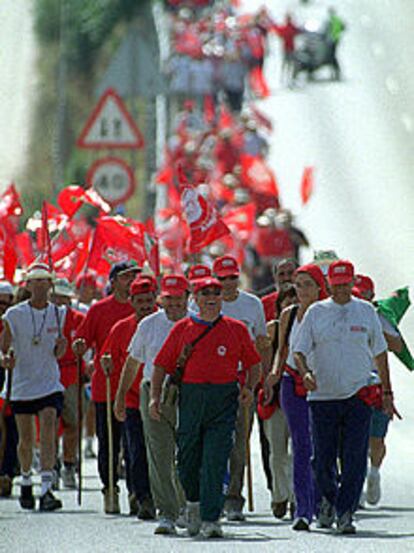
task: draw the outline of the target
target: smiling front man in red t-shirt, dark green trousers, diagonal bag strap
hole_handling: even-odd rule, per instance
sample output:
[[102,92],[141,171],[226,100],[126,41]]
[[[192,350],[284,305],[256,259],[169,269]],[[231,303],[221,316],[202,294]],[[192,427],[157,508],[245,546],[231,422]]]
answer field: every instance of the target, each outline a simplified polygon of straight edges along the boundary
[[[159,420],[165,373],[176,373],[177,362],[185,355],[177,433],[178,474],[187,499],[190,535],[201,530],[211,538],[223,535],[219,523],[224,505],[223,482],[237,410],[239,401],[242,408],[253,401],[260,376],[260,355],[246,325],[220,315],[222,285],[218,280],[196,280],[193,295],[199,313],[174,325],[154,360],[150,414]],[[239,393],[240,363],[246,378]]]

